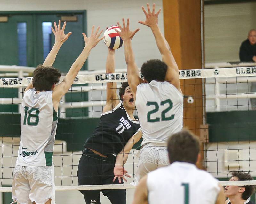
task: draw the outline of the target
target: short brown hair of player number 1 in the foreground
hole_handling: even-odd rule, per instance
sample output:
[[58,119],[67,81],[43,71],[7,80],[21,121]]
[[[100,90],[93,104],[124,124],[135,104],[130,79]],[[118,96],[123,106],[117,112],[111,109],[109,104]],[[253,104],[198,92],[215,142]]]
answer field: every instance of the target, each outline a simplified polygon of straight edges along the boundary
[[170,163],[188,162],[196,164],[200,150],[200,142],[197,136],[188,130],[182,130],[173,134],[168,139],[168,153]]

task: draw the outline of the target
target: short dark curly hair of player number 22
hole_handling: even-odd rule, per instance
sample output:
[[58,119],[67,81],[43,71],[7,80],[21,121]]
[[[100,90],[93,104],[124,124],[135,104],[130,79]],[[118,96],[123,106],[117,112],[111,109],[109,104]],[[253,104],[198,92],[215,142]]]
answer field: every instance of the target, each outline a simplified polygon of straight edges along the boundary
[[144,62],[140,71],[148,83],[152,80],[163,82],[167,71],[167,65],[159,59],[152,59]]

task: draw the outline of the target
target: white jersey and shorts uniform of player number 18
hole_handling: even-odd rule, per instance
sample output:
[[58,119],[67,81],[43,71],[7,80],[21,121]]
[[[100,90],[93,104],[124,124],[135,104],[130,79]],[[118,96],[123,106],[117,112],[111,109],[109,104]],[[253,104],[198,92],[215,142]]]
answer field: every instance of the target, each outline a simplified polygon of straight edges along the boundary
[[21,135],[12,179],[12,198],[19,203],[55,203],[52,154],[57,112],[52,91],[29,89],[22,99]]

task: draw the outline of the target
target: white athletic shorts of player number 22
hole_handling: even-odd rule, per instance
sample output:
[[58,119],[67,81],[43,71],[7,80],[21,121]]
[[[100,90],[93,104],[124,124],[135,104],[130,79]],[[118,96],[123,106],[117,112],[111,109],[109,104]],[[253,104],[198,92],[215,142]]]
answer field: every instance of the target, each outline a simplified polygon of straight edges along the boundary
[[134,176],[134,182],[131,183],[133,186],[137,186],[140,179],[150,171],[170,164],[166,146],[146,144],[138,151],[138,156],[139,164]]

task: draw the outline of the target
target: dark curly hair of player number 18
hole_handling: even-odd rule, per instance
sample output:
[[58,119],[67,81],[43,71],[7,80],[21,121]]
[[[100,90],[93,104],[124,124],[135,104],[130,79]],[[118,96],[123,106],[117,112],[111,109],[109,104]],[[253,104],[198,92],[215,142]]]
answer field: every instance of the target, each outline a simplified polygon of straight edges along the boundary
[[36,91],[50,91],[60,76],[61,73],[58,69],[39,64],[33,72],[33,86]]

